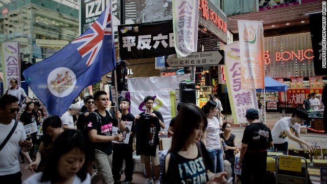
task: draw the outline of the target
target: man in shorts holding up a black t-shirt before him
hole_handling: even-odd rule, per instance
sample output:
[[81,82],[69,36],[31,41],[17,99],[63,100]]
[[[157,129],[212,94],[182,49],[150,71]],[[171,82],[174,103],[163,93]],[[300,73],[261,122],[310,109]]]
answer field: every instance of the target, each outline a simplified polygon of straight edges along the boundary
[[145,164],[147,180],[145,184],[153,183],[153,166],[155,182],[160,183],[160,162],[159,162],[159,131],[165,129],[164,118],[160,112],[153,110],[154,98],[147,96],[144,98],[144,105],[148,112],[142,112],[135,117],[136,126],[136,155],[141,155],[141,163]]

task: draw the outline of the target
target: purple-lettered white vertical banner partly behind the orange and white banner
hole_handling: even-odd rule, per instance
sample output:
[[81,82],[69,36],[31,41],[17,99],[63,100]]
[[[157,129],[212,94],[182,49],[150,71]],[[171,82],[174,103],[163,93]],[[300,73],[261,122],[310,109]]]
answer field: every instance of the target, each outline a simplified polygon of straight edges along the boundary
[[249,108],[258,109],[255,89],[241,88],[241,58],[239,42],[225,45],[224,65],[228,97],[234,124],[247,123],[245,114]]

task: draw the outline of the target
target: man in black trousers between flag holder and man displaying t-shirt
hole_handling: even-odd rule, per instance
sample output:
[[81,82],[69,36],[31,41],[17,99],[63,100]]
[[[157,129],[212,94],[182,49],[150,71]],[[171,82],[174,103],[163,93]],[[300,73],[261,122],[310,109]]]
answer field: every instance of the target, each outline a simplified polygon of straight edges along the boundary
[[[125,160],[125,179],[123,182],[121,182],[122,184],[130,184],[133,182],[133,137],[135,134],[135,117],[128,111],[130,105],[131,101],[129,101],[128,99],[121,100],[120,109],[122,110],[122,120],[124,122],[132,122],[131,130],[128,130],[130,132],[128,143],[115,143],[113,145],[112,154],[112,175],[115,182],[121,180],[120,172],[123,166],[123,161]],[[123,135],[126,135],[126,133],[127,132],[124,131]]]

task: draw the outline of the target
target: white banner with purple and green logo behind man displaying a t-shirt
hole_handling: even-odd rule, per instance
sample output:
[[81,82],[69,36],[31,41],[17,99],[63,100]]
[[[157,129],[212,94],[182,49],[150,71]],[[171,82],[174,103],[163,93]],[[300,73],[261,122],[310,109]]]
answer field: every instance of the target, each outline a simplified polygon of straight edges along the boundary
[[165,130],[168,130],[169,123],[176,116],[176,96],[175,91],[143,91],[143,92],[123,92],[124,98],[131,101],[130,112],[136,116],[146,110],[144,98],[152,96],[154,98],[153,110],[157,110],[164,118]]

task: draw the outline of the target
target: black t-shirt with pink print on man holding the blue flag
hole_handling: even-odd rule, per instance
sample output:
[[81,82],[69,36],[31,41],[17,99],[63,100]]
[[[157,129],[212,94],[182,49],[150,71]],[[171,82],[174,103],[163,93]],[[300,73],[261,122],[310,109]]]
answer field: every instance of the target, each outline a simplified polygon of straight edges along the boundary
[[[115,114],[112,111],[108,112],[106,110],[106,116],[103,117],[98,112],[98,110],[95,110],[94,112],[99,114],[99,116],[101,118],[101,123],[100,123],[100,121],[98,122],[96,114],[89,113],[88,114],[88,124],[85,127],[85,130],[95,129],[98,131],[98,135],[111,136],[112,135],[112,126],[118,125],[118,121],[115,118]],[[109,113],[112,114],[112,119],[110,118]],[[104,142],[104,143],[92,143],[92,144],[93,144],[94,149],[100,150],[108,155],[110,155],[112,153],[111,141]]]

